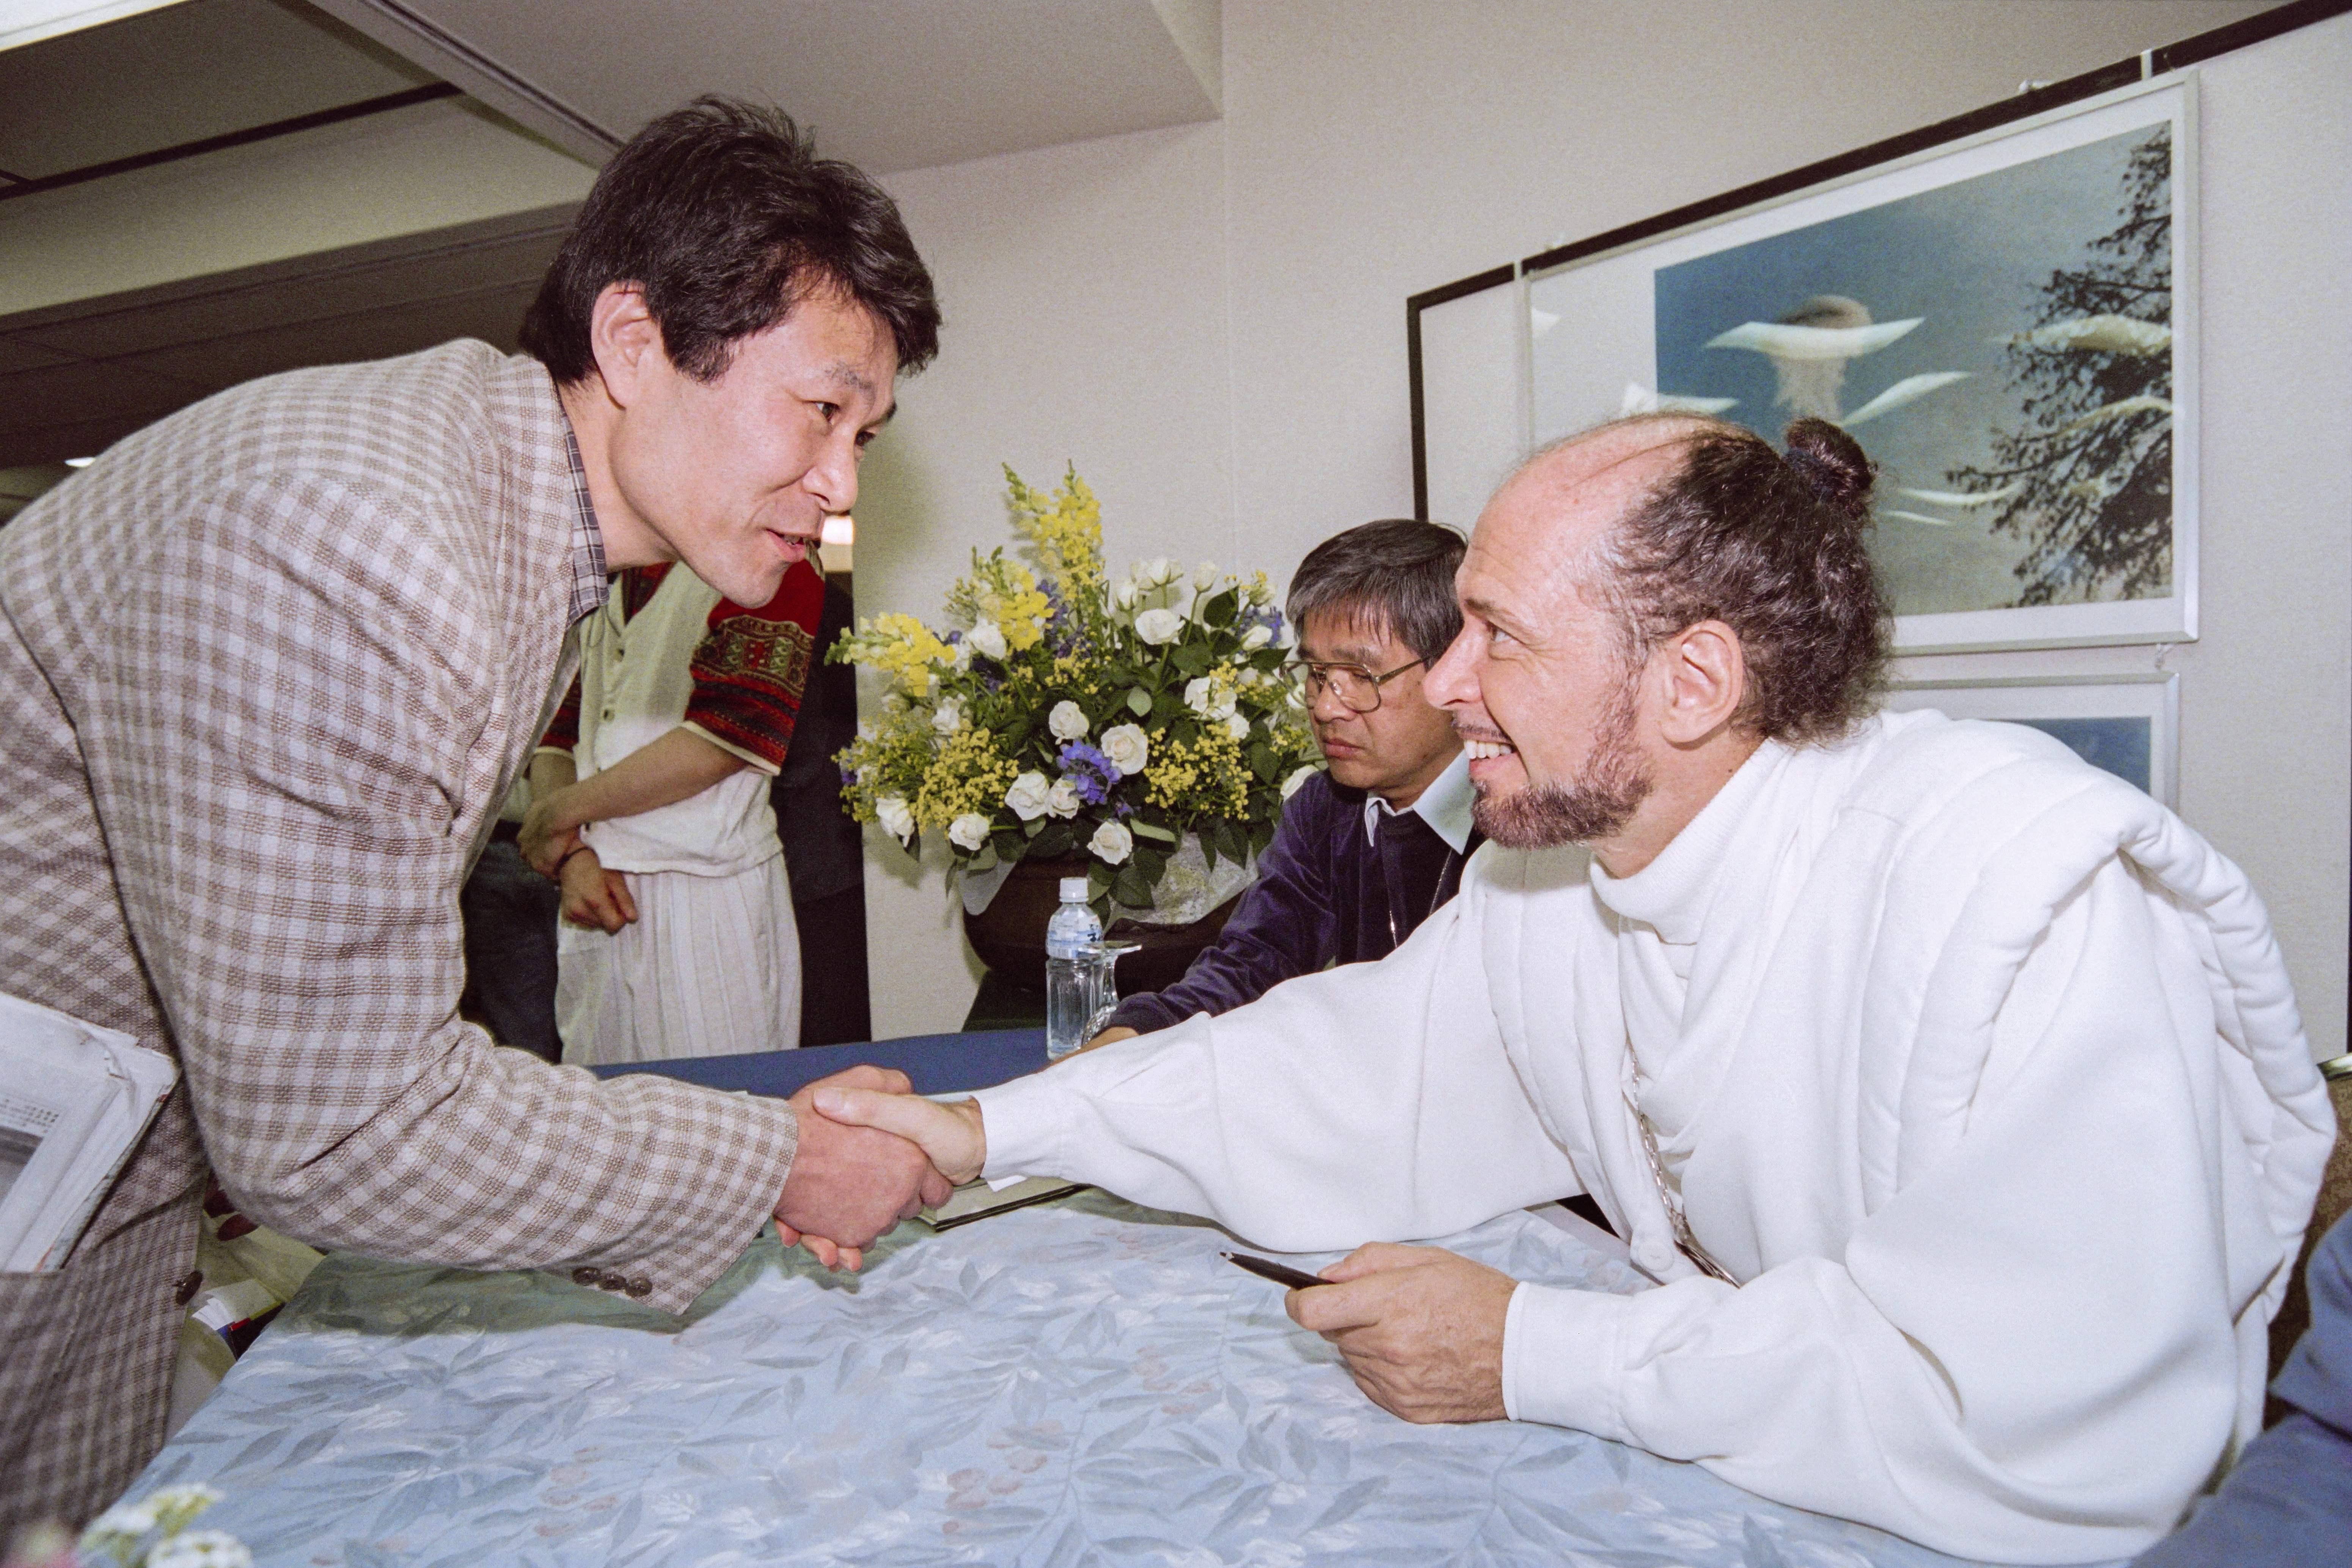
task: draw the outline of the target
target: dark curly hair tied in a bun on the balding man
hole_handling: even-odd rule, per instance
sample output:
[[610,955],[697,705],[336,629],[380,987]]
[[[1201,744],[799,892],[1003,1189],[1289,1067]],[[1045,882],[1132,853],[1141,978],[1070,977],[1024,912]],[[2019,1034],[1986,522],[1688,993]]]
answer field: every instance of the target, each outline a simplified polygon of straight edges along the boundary
[[1738,724],[1766,741],[1830,741],[1870,712],[1886,665],[1886,602],[1870,571],[1875,468],[1820,418],[1788,428],[1788,456],[1700,421],[1679,465],[1602,548],[1630,654],[1722,621],[1748,661]]

